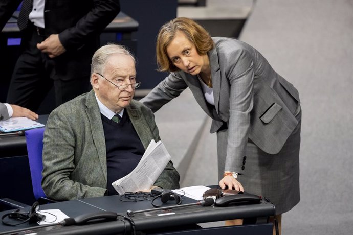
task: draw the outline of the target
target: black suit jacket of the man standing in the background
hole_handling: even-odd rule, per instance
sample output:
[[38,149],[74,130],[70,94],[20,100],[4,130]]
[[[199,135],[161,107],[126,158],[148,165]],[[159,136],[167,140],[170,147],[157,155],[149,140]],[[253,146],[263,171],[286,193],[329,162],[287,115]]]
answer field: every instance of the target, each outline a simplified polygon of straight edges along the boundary
[[[0,29],[4,28],[20,2],[1,1]],[[53,59],[54,79],[69,80],[90,75],[91,59],[99,47],[99,35],[119,11],[119,0],[46,0],[46,36],[59,34],[60,42],[67,50]]]

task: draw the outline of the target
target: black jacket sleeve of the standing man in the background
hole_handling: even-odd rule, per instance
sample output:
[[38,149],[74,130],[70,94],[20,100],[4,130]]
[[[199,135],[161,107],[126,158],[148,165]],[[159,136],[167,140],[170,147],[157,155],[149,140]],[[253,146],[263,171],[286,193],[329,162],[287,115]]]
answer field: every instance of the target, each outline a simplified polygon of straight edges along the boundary
[[75,26],[59,33],[65,49],[79,49],[84,42],[101,33],[120,11],[119,0],[94,0],[94,7]]

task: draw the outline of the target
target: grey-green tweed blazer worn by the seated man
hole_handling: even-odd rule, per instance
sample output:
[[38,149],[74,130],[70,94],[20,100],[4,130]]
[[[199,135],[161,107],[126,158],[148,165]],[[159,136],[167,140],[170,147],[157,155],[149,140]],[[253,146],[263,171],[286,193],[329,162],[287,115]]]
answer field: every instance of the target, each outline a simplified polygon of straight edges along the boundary
[[[145,149],[159,140],[153,113],[137,101],[125,108]],[[59,106],[49,116],[43,139],[42,187],[56,200],[104,196],[107,188],[103,124],[94,91]],[[179,187],[169,162],[155,186]]]

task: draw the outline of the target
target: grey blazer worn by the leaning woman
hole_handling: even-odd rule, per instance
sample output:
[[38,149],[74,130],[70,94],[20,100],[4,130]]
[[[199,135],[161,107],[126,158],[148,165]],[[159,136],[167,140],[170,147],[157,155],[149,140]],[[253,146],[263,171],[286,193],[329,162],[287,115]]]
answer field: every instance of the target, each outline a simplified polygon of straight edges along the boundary
[[248,139],[269,154],[278,153],[298,121],[293,115],[299,101],[294,86],[278,75],[252,46],[235,39],[214,37],[208,52],[215,106],[205,101],[196,76],[171,73],[140,100],[153,112],[187,87],[197,103],[212,117],[211,133],[228,128],[225,170],[241,172]]

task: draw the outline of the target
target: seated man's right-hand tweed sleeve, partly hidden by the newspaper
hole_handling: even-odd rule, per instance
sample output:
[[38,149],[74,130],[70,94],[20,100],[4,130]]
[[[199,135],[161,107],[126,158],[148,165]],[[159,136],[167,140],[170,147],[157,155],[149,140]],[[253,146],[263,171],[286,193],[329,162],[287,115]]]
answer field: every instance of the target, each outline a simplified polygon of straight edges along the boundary
[[[150,109],[146,109],[146,112],[147,115],[144,116],[148,117],[146,120],[152,131],[153,138],[155,141],[158,141],[160,140],[160,136],[155,122],[155,115]],[[173,162],[169,161],[153,186],[162,187],[163,189],[178,189],[180,187],[179,180],[180,175],[178,171],[174,168]]]

